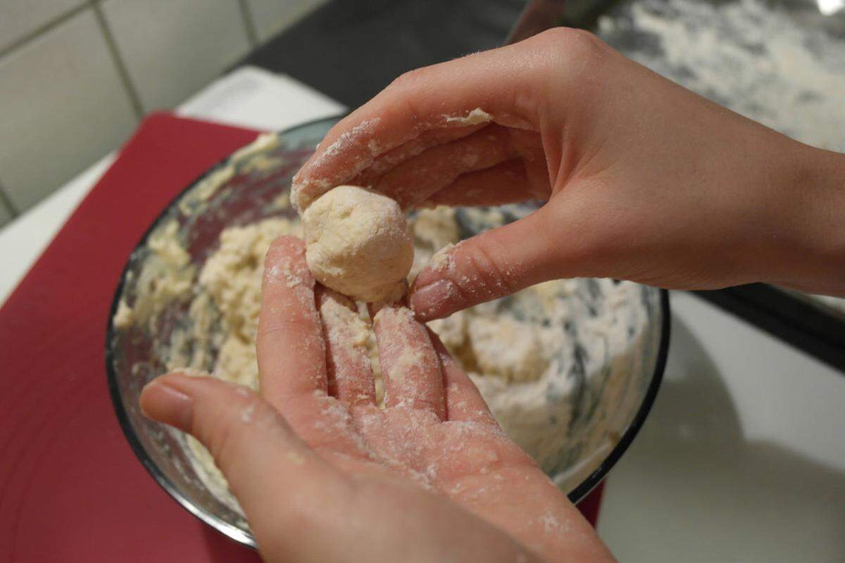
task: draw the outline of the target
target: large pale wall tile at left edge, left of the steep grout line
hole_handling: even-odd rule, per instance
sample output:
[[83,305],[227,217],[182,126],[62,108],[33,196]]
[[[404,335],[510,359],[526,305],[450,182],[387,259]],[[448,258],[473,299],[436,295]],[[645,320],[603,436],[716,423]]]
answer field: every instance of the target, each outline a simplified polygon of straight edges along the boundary
[[29,208],[132,133],[137,117],[87,9],[0,59],[0,180]]

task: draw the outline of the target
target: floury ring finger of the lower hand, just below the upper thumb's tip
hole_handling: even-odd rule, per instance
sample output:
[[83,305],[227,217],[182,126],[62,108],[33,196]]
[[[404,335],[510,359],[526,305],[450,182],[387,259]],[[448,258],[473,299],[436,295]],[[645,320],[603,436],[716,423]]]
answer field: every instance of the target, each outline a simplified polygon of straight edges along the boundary
[[443,374],[426,328],[401,304],[385,305],[373,317],[384,377],[384,405],[426,409],[445,415]]

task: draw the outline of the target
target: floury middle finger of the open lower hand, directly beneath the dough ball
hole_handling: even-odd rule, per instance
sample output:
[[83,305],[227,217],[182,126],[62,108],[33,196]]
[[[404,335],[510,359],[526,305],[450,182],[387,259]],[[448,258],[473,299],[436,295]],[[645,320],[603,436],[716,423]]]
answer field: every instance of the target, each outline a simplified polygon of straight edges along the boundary
[[358,315],[352,300],[321,285],[317,288],[317,302],[327,348],[330,394],[350,405],[374,405],[367,323]]

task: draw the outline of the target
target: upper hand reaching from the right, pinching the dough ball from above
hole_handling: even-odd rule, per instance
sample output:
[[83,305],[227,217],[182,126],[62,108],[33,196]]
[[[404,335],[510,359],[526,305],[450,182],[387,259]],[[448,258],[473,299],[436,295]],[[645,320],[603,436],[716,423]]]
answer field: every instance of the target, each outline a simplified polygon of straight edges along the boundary
[[330,131],[294,201],[343,183],[405,207],[548,199],[419,274],[411,305],[430,320],[575,276],[845,294],[843,178],[845,156],[560,28],[401,76]]

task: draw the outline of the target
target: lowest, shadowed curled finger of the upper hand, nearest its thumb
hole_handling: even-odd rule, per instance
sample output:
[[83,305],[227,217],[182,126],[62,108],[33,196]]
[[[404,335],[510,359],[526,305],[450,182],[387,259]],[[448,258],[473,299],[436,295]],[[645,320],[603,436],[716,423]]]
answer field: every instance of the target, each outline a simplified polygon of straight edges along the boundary
[[458,176],[450,186],[428,198],[435,205],[502,205],[532,197],[525,166],[508,160],[486,170]]

